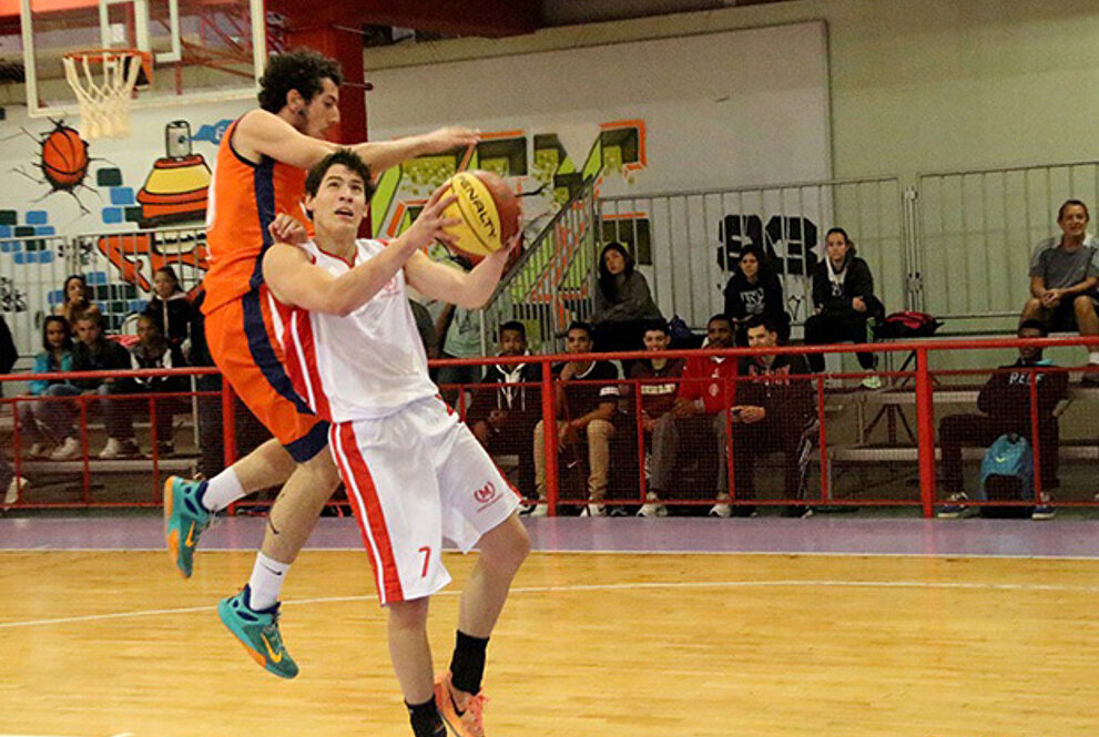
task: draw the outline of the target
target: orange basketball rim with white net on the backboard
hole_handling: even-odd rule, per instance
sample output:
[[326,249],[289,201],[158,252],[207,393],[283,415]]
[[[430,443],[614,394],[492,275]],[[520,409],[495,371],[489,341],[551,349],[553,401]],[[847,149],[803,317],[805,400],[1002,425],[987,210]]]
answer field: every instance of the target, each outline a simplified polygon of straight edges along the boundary
[[80,104],[81,134],[95,139],[130,135],[134,85],[151,79],[153,55],[138,49],[89,49],[64,54],[65,80]]

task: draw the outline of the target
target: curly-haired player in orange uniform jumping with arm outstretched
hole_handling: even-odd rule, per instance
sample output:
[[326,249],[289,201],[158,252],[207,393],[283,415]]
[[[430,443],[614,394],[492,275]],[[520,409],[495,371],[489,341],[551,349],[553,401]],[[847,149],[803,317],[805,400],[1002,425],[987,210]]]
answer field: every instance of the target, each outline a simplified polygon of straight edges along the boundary
[[[277,215],[305,221],[305,170],[337,149],[322,136],[339,121],[342,79],[338,63],[312,50],[273,57],[260,81],[260,109],[234,121],[222,137],[206,218],[206,339],[222,375],[275,437],[210,481],[170,478],[164,489],[169,552],[189,577],[199,535],[214,513],[248,493],[283,485],[248,586],[218,611],[253,657],[285,678],[297,666],[278,632],[278,594],[339,475],[326,450],[327,422],[294,392],[272,340],[262,263],[279,234]],[[476,141],[474,131],[446,127],[352,150],[380,172]]]

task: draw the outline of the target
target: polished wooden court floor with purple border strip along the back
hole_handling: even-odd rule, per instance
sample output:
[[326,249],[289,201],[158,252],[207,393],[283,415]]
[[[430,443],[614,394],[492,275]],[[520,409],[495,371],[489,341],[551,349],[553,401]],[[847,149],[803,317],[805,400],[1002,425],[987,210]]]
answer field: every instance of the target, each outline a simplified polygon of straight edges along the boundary
[[[1093,521],[529,524],[491,737],[1099,734]],[[260,521],[211,531],[190,582],[159,525],[0,520],[0,737],[410,735],[352,521],[322,520],[287,582],[289,682],[214,612]],[[447,556],[433,603],[440,665],[470,563]]]

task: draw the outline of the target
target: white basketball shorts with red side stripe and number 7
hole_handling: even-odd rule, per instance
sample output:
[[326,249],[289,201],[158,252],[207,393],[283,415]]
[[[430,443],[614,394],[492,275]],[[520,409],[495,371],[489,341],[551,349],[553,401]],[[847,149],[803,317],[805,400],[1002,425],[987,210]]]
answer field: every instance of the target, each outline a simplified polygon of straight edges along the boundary
[[329,440],[383,605],[446,586],[442,539],[468,553],[519,506],[519,493],[441,399],[333,424]]

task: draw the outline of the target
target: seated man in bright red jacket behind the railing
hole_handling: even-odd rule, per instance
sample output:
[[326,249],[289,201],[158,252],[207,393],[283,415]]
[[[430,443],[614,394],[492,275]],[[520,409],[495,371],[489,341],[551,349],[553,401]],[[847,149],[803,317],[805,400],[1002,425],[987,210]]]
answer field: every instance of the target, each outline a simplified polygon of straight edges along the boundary
[[[708,349],[733,348],[733,321],[724,315],[711,317],[706,323],[706,340]],[[718,458],[726,457],[729,408],[733,406],[735,378],[734,358],[692,356],[686,360],[674,405],[653,423],[649,488],[657,499],[666,498],[666,492],[675,488],[676,454],[680,437],[685,432],[703,429],[713,438]],[[724,460],[718,467],[718,503],[710,514],[730,516],[733,510],[727,503],[729,469]]]

